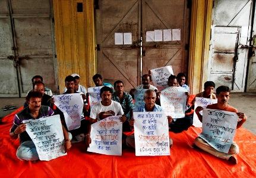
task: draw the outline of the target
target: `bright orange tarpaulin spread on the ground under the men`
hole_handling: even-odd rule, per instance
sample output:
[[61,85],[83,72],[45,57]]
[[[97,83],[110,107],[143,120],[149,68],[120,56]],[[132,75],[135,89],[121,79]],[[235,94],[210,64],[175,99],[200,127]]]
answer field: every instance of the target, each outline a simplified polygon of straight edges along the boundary
[[201,132],[194,127],[181,134],[170,132],[173,147],[169,156],[136,157],[128,148],[122,156],[101,155],[85,152],[80,142],[72,144],[68,155],[55,160],[20,161],[15,155],[19,142],[9,136],[18,110],[5,116],[0,125],[1,177],[256,177],[256,136],[244,128],[238,129],[235,136],[240,148],[235,166],[192,148]]

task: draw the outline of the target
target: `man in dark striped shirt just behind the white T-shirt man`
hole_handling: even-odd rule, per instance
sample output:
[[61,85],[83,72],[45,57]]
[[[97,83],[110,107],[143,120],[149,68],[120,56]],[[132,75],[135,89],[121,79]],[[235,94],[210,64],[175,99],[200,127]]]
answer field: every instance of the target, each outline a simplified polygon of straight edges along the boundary
[[115,81],[114,87],[115,92],[113,93],[113,101],[117,101],[121,104],[124,115],[127,117],[123,131],[131,131],[128,120],[131,119],[131,112],[134,108],[132,97],[129,93],[124,92],[124,83],[121,80]]

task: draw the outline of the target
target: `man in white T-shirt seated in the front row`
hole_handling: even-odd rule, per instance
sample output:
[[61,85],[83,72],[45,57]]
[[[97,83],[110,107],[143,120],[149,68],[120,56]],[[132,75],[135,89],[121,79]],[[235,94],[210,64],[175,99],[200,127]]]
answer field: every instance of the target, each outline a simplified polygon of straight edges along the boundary
[[[102,98],[102,101],[100,101],[99,103],[97,103],[91,108],[91,113],[90,113],[91,124],[97,122],[97,120],[102,120],[109,116],[122,115],[120,117],[120,121],[122,123],[124,123],[125,120],[127,120],[127,117],[124,115],[124,111],[122,110],[121,104],[111,100],[112,94],[113,94],[112,88],[104,86],[100,89],[100,97]],[[91,125],[89,126],[89,131],[87,132],[86,139],[85,139],[87,148],[91,143],[90,131],[91,131]]]

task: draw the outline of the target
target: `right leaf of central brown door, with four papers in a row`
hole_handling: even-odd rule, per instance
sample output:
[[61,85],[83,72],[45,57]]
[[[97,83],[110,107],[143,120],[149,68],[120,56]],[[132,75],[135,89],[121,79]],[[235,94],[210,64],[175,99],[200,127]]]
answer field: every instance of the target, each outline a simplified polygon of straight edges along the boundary
[[[189,8],[187,1],[143,0],[143,74],[149,69],[172,65],[173,72],[186,72],[188,66]],[[146,42],[146,31],[181,29],[181,40]],[[186,49],[187,45],[187,49]]]

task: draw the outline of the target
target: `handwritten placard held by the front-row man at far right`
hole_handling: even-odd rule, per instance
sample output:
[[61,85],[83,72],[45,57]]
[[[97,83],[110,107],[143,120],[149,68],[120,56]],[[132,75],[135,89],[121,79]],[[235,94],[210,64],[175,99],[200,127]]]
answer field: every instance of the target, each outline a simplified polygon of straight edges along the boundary
[[200,137],[220,152],[229,152],[238,123],[238,115],[223,110],[203,110],[203,131]]

